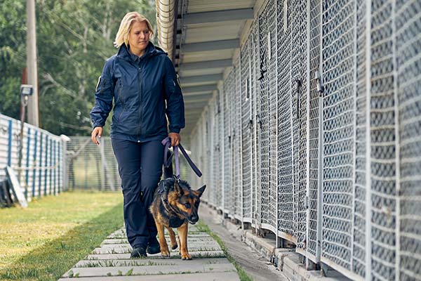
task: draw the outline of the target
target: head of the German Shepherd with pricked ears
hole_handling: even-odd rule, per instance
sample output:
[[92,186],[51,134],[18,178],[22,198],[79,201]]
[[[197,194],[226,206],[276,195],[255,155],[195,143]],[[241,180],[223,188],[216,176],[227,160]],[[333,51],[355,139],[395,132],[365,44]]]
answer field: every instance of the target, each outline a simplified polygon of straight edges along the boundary
[[189,223],[196,223],[199,221],[199,214],[197,213],[200,204],[200,197],[205,191],[206,185],[203,185],[198,190],[192,190],[185,181],[174,181],[174,192],[172,195],[168,194],[168,202],[180,212],[180,215],[189,221]]

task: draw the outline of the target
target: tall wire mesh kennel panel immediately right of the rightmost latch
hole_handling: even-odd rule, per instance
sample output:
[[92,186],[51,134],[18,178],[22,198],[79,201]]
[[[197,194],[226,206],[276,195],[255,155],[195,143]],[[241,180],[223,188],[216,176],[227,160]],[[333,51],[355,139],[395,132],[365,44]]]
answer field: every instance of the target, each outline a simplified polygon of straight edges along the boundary
[[354,4],[323,4],[323,257],[351,269]]

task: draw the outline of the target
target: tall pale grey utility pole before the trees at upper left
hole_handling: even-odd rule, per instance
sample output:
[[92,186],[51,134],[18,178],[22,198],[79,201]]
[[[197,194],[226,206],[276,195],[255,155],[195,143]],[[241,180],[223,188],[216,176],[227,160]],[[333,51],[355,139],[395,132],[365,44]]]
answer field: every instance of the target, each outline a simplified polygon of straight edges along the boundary
[[34,86],[34,92],[28,99],[28,123],[39,127],[35,0],[27,0],[27,84]]

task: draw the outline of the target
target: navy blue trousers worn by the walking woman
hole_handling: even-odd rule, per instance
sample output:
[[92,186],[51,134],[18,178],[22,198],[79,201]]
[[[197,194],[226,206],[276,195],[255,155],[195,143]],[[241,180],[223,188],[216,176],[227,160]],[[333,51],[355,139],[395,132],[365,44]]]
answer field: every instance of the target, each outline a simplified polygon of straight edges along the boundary
[[149,206],[162,174],[163,145],[161,141],[135,143],[113,138],[112,148],[119,164],[128,242],[146,248],[157,233]]

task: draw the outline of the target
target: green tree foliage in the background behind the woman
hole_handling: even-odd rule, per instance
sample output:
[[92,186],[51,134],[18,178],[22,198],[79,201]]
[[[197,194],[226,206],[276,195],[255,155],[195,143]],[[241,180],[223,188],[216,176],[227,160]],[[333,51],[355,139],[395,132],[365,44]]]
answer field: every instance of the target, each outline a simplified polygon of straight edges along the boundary
[[[4,0],[0,6],[0,112],[16,119],[26,65],[25,5],[25,0]],[[36,1],[43,129],[68,136],[91,131],[89,111],[95,102],[95,86],[105,60],[117,51],[112,42],[129,11],[144,14],[156,33],[152,0]]]

